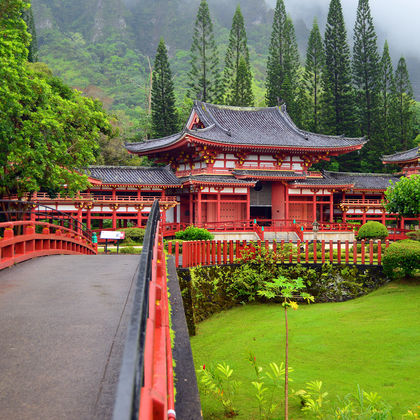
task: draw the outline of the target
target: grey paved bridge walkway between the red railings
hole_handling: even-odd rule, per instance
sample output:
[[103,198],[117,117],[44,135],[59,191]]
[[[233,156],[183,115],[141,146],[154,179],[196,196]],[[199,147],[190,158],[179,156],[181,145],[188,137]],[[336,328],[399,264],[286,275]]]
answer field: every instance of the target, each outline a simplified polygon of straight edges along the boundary
[[107,419],[139,256],[51,256],[0,272],[0,419]]

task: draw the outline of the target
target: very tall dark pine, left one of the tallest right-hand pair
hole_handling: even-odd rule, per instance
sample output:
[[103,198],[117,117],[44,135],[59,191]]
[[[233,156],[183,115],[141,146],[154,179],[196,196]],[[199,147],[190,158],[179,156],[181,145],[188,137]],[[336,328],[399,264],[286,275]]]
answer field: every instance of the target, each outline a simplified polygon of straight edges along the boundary
[[325,28],[323,131],[352,135],[354,118],[350,48],[340,0],[331,0]]

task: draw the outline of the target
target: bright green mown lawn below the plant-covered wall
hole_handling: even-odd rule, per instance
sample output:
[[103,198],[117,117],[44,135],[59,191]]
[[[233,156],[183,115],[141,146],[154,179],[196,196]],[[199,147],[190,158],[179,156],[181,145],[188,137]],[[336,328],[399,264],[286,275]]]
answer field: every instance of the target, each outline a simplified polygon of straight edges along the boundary
[[[420,282],[393,282],[356,300],[301,305],[288,314],[291,388],[322,380],[335,402],[360,384],[392,405],[396,419],[420,401]],[[218,362],[234,369],[241,382],[236,418],[259,418],[246,358],[251,350],[259,365],[284,361],[282,306],[247,305],[214,315],[199,324],[191,345],[196,369]],[[205,419],[223,418],[212,397],[202,393],[201,402]],[[291,419],[304,417],[297,399],[290,407]]]

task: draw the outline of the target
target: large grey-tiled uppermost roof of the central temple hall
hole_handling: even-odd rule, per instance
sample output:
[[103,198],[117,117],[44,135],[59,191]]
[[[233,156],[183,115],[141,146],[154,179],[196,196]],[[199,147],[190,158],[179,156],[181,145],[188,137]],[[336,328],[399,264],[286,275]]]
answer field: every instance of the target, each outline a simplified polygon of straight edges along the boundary
[[[365,138],[327,136],[310,133],[296,127],[286,107],[241,108],[212,105],[195,101],[191,116],[197,114],[204,128],[189,130],[161,139],[127,143],[132,153],[145,154],[176,145],[187,135],[204,142],[222,145],[256,146],[270,148],[298,148],[314,150],[355,150],[366,142]],[[190,120],[191,120],[190,116]]]

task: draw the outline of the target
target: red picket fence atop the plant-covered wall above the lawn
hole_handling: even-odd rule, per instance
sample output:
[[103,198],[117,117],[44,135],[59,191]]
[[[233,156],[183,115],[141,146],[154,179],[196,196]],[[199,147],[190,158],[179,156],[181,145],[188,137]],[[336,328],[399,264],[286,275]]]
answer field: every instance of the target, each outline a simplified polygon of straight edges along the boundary
[[[168,253],[175,256],[177,267],[195,267],[198,265],[219,265],[237,263],[244,257],[244,250],[266,249],[285,264],[309,263],[324,264],[362,264],[381,265],[383,251],[389,241],[374,243],[365,241],[190,241],[169,242]],[[314,249],[317,251],[314,252]]]

